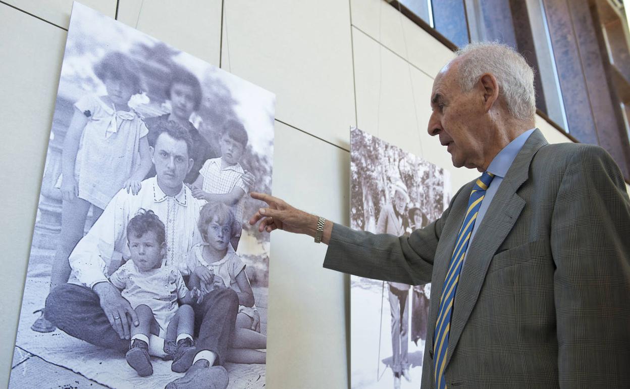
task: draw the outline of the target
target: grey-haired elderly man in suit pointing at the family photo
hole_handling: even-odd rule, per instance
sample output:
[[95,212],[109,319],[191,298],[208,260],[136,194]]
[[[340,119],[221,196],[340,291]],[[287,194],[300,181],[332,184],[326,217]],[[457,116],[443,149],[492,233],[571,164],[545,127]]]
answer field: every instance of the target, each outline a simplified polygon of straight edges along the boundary
[[533,74],[473,44],[433,83],[428,132],[481,178],[409,237],[352,231],[253,194],[251,224],[328,243],[324,267],[432,282],[422,388],[621,387],[630,382],[630,200],[609,154],[547,144]]

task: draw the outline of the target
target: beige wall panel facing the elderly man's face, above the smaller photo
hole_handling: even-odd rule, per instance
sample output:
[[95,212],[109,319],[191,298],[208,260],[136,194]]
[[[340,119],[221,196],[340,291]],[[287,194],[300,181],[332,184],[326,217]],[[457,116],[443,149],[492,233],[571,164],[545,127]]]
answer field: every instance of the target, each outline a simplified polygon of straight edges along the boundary
[[454,168],[446,148],[427,132],[433,79],[364,33],[355,29],[353,36],[358,128],[447,168],[453,192],[478,177],[476,170]]

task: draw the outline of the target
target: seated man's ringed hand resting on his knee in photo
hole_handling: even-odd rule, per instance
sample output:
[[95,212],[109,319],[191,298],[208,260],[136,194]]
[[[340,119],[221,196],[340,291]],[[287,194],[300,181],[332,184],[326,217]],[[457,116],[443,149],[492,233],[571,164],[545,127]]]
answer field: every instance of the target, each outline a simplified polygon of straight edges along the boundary
[[100,299],[101,308],[120,339],[130,339],[130,327],[140,324],[129,301],[120,296],[120,291],[109,282],[99,282],[93,288]]

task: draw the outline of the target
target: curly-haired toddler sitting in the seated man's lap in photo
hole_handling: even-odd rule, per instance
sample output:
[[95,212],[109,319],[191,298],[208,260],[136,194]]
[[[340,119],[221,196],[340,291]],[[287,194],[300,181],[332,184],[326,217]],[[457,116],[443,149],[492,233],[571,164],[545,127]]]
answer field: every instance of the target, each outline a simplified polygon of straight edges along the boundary
[[[180,270],[164,264],[165,236],[157,215],[140,209],[127,226],[131,258],[110,276],[138,316],[139,325],[130,328],[131,344],[125,357],[140,376],[153,373],[151,335],[163,338],[164,344],[176,343],[166,359],[173,359],[171,369],[178,373],[186,371],[197,353],[192,337],[195,313],[190,304],[200,302],[202,296],[196,288],[188,290]],[[178,301],[183,305],[178,306]]]

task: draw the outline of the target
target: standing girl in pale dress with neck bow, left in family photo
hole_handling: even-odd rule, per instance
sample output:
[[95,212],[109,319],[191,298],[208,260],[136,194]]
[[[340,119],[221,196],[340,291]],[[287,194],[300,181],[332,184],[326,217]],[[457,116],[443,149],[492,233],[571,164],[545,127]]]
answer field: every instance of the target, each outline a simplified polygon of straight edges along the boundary
[[[121,188],[134,194],[151,169],[147,127],[129,108],[129,99],[140,93],[140,69],[120,52],[106,54],[94,67],[105,84],[106,95],[86,95],[74,103],[74,113],[62,150],[62,174],[57,187],[62,194],[61,232],[50,275],[50,290],[70,276],[68,257],[83,237],[90,207],[95,219]],[[43,315],[31,327],[52,332]]]

